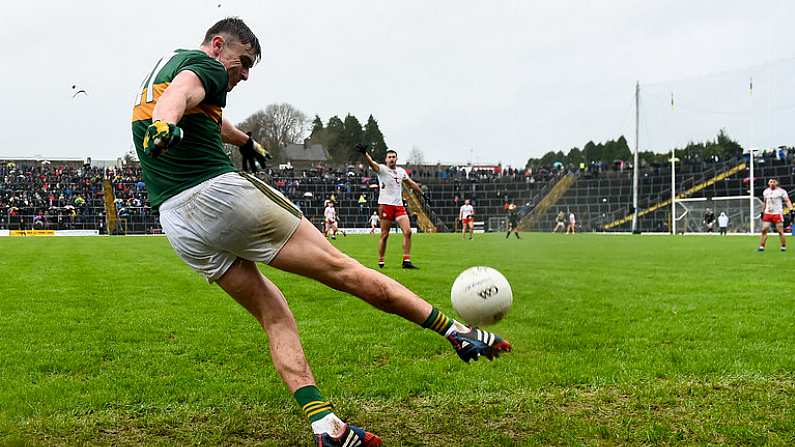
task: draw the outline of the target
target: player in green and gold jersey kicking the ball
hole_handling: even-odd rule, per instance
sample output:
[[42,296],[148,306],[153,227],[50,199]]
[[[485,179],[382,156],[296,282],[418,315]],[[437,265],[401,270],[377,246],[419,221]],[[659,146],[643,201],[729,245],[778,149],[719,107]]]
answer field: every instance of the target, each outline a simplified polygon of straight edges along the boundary
[[511,346],[446,317],[403,285],[344,255],[281,193],[235,170],[224,143],[243,150],[259,145],[223,119],[221,109],[227,92],[249,78],[260,53],[251,29],[228,18],[207,31],[198,50],[176,50],[146,71],[132,116],[144,181],[177,254],[267,332],[273,366],[309,419],[314,445],[380,446],[378,436],[334,414],[316,385],[287,300],[257,262],[315,279],[429,328],[467,362],[492,359]]

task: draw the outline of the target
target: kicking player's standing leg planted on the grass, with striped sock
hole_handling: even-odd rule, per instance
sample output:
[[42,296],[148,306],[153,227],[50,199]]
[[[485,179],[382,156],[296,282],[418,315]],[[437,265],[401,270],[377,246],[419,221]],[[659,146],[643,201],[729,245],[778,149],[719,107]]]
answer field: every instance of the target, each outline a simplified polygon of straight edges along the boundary
[[[315,231],[321,239],[326,240]],[[304,356],[295,318],[287,306],[287,300],[260,273],[255,263],[238,259],[218,279],[218,284],[248,310],[268,334],[273,366],[309,419],[316,445],[381,445],[378,436],[349,426],[334,414],[333,405],[315,385],[315,378]],[[354,440],[359,441],[359,444],[351,443]]]

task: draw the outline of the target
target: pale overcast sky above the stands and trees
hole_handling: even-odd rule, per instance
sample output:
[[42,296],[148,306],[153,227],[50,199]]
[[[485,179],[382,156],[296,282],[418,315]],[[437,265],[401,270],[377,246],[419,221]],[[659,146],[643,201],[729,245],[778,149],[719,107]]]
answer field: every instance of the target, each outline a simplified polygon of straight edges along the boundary
[[[220,4],[220,7],[218,6]],[[626,135],[642,150],[714,136],[795,145],[792,1],[3,2],[0,156],[114,159],[156,59],[229,15],[263,60],[228,98],[239,122],[289,102],[324,122],[373,114],[426,161],[523,165]],[[753,77],[753,92],[749,81]],[[72,98],[72,85],[87,96]],[[671,106],[671,95],[674,106]]]

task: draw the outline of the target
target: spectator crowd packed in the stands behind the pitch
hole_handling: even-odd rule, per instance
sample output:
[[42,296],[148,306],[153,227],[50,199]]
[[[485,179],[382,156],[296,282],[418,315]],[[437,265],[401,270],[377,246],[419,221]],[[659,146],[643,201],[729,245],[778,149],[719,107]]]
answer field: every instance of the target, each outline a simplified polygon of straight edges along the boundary
[[[685,160],[683,171],[701,172],[719,165],[717,161]],[[760,154],[758,166],[795,164],[795,149],[778,148]],[[725,163],[725,162],[724,162]],[[449,207],[451,213],[465,199],[479,212],[507,209],[509,203],[524,203],[533,191],[553,183],[567,173],[583,178],[631,175],[623,161],[581,166],[551,166],[517,169],[497,165],[405,165],[436,210]],[[664,175],[667,166],[648,165],[644,175]],[[678,168],[680,169],[680,168]],[[310,219],[321,220],[323,208],[335,203],[342,225],[366,227],[377,208],[380,185],[365,165],[294,169],[289,164],[261,171],[259,175],[296,203]],[[795,175],[795,171],[793,174]],[[105,201],[105,181],[113,198]],[[537,183],[537,184],[536,184]],[[521,186],[526,185],[526,186]],[[73,161],[1,161],[0,229],[98,229],[104,231],[106,210],[113,204],[124,232],[159,231],[156,210],[149,204],[146,185],[136,163],[101,168]],[[528,205],[531,205],[528,202]],[[446,211],[439,211],[444,213]]]

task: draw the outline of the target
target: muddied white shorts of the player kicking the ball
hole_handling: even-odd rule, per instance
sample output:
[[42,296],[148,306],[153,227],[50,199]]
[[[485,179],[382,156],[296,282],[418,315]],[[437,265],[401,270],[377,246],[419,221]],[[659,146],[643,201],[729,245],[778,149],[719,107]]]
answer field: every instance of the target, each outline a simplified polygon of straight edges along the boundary
[[301,212],[247,173],[213,177],[160,205],[160,225],[177,254],[208,282],[237,258],[269,263],[290,239]]

